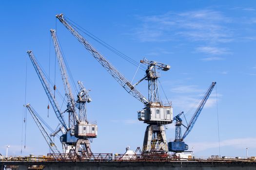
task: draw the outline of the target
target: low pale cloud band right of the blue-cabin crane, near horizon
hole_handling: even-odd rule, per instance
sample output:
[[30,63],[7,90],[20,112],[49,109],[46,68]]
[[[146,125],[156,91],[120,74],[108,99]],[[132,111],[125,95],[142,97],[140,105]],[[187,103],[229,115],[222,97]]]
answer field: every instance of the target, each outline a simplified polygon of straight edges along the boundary
[[[220,147],[232,146],[237,149],[245,147],[256,148],[255,143],[256,137],[234,138],[220,141]],[[218,148],[219,145],[218,142],[207,141],[191,143],[190,146],[195,146],[195,148],[197,148],[197,151],[205,151],[211,148]]]

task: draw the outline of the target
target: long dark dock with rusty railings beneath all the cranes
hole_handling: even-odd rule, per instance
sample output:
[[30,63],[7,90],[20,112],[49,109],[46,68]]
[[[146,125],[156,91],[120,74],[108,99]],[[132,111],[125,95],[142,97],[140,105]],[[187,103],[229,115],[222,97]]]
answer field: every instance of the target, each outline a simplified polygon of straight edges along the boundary
[[91,153],[0,159],[0,168],[10,170],[256,170],[254,158],[181,160],[167,154]]

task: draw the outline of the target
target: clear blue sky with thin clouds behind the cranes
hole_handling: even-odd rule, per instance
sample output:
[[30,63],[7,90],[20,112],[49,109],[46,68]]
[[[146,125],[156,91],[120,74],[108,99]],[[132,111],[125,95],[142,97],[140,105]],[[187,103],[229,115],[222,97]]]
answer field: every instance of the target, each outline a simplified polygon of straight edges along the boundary
[[[26,63],[26,102],[52,128],[58,125],[53,110],[47,118],[48,100],[26,54],[27,50],[34,51],[47,73],[50,68],[51,80],[55,80],[51,28],[57,29],[74,80],[91,89],[93,102],[87,105],[88,117],[98,122],[98,137],[91,144],[93,152],[124,153],[127,145],[134,150],[142,145],[146,124],[138,121],[137,111],[143,104],[123,90],[56,21],[55,15],[59,13],[138,62],[147,57],[171,65],[169,71],[160,72],[160,82],[173,103],[174,115],[184,111],[190,119],[200,96],[216,81],[221,155],[246,156],[246,147],[250,148],[249,155],[256,155],[256,1],[253,0],[62,0],[61,3],[2,0],[0,153],[5,154],[4,145],[10,144],[9,154],[21,154]],[[136,67],[89,41],[132,80]],[[59,68],[56,70],[56,85],[63,94]],[[138,71],[135,80],[143,76],[144,72]],[[146,82],[138,85],[138,89],[147,95]],[[164,99],[162,92],[161,96]],[[23,145],[24,128],[23,124]],[[168,139],[174,139],[174,131],[174,124],[169,125]],[[59,143],[58,138],[55,141]],[[216,89],[185,141],[190,148],[195,147],[196,156],[218,154]],[[28,114],[26,149],[22,155],[48,152]]]

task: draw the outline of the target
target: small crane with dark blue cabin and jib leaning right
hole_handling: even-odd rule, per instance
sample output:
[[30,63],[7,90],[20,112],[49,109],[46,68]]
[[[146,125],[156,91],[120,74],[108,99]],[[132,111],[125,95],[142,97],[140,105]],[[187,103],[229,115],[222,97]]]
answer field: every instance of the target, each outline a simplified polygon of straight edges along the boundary
[[[173,142],[168,142],[168,148],[169,148],[170,152],[179,153],[179,152],[183,152],[183,151],[188,150],[188,145],[185,144],[185,142],[183,140],[191,132],[193,126],[195,125],[195,123],[197,121],[197,118],[199,117],[199,115],[200,115],[200,113],[201,113],[201,111],[204,107],[204,104],[208,100],[208,98],[209,98],[210,94],[212,93],[213,88],[214,88],[215,85],[216,85],[216,82],[212,82],[210,87],[206,90],[202,100],[200,101],[200,103],[197,107],[197,110],[195,111],[194,115],[192,116],[192,118],[189,121],[187,126],[182,123],[182,119],[180,118],[180,116],[182,114],[184,114],[184,112],[179,113],[176,117],[173,118],[173,120],[176,120],[175,140]],[[183,136],[181,134],[181,126],[186,128],[186,131],[183,134]]]

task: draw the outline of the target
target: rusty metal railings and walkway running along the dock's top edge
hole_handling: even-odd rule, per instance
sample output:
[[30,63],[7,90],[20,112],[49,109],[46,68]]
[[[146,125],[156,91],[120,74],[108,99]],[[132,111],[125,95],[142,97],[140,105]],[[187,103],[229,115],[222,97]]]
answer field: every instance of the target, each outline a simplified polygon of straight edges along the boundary
[[0,162],[175,162],[175,161],[195,161],[195,162],[256,162],[256,157],[250,158],[230,157],[230,156],[205,156],[194,158],[182,158],[177,155],[167,153],[142,153],[138,147],[133,154],[112,153],[49,153],[47,156],[0,156]]

